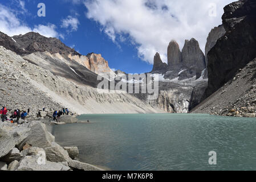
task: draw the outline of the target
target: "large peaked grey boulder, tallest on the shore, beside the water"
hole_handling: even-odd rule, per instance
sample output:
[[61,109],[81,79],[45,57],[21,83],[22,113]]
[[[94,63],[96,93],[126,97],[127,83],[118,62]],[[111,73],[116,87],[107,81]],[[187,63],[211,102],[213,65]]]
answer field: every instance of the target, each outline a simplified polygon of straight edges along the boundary
[[31,129],[30,135],[19,144],[19,148],[25,144],[29,144],[32,147],[47,148],[51,146],[55,138],[46,129],[46,125],[40,121],[32,121],[29,125]]

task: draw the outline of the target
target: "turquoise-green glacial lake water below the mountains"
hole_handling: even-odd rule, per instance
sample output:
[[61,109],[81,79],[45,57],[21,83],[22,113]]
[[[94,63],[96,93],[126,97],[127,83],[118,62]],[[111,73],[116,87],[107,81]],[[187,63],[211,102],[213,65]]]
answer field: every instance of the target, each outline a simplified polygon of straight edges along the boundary
[[[62,146],[111,170],[255,170],[256,119],[208,114],[87,114],[55,125]],[[209,152],[217,164],[209,164]]]

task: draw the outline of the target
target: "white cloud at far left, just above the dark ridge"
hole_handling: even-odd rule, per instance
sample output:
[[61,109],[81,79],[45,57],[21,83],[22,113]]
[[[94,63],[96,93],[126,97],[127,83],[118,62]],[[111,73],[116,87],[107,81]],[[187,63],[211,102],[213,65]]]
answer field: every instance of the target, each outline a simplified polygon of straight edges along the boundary
[[54,24],[39,24],[31,28],[27,26],[27,24],[22,23],[22,21],[17,18],[17,16],[13,13],[12,10],[8,9],[6,6],[3,6],[1,4],[0,31],[9,36],[26,34],[27,32],[34,31],[46,37],[63,38],[63,36],[56,31],[56,26]]

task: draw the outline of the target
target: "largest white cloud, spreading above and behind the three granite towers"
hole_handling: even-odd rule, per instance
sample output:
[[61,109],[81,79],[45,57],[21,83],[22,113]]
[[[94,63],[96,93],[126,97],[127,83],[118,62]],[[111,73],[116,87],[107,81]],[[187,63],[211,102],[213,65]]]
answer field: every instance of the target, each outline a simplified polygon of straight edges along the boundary
[[[204,52],[206,38],[214,26],[221,24],[225,5],[234,0],[96,0],[87,1],[87,18],[104,28],[113,42],[128,34],[137,43],[141,59],[153,63],[159,52],[166,62],[170,40],[184,46],[185,39],[195,38]],[[216,15],[214,7],[216,5]],[[120,39],[119,39],[120,40]]]

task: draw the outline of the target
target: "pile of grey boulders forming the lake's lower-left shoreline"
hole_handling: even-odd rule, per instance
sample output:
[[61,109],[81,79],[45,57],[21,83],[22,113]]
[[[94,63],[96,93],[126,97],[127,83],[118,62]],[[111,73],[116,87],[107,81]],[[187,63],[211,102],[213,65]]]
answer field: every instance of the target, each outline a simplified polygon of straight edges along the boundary
[[103,171],[78,155],[78,147],[56,143],[41,121],[0,122],[0,171]]

